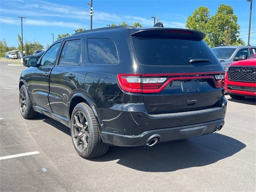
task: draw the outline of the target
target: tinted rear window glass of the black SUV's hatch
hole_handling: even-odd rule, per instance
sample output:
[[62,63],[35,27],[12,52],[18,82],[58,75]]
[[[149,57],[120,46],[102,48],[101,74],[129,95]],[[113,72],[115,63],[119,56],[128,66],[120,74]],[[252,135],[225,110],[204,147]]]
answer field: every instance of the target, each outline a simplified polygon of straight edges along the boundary
[[[202,66],[220,65],[216,56],[203,40],[132,37],[136,58],[149,66]],[[210,62],[190,64],[191,59]]]

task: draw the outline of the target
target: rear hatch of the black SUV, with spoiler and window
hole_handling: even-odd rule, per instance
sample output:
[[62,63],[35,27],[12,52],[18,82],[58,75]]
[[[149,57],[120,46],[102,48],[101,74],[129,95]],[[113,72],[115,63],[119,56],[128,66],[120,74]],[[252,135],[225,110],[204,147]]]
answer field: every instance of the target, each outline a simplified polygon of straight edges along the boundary
[[157,28],[135,32],[131,38],[149,114],[221,105],[224,69],[202,40],[203,33]]

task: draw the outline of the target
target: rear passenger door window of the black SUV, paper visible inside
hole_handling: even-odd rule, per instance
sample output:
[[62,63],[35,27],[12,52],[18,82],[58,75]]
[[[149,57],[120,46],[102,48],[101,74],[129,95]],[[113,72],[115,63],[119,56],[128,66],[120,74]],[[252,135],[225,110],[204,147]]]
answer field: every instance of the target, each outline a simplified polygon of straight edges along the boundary
[[66,41],[60,54],[60,66],[80,65],[82,61],[81,40]]

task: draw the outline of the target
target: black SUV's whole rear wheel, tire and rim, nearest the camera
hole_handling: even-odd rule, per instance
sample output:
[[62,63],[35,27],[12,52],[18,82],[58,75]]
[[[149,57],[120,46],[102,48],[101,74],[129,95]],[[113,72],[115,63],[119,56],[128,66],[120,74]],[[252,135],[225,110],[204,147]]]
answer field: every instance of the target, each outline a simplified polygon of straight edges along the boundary
[[82,158],[96,158],[108,151],[101,140],[98,123],[90,106],[79,103],[71,116],[71,138],[76,152]]

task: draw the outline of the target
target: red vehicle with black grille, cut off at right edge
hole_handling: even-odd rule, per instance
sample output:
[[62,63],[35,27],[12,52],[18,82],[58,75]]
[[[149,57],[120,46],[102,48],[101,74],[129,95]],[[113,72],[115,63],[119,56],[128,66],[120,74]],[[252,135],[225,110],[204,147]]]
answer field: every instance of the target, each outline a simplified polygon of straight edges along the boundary
[[226,68],[225,90],[233,99],[256,96],[256,54]]

